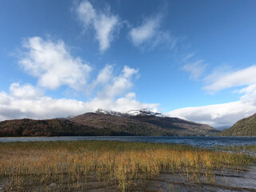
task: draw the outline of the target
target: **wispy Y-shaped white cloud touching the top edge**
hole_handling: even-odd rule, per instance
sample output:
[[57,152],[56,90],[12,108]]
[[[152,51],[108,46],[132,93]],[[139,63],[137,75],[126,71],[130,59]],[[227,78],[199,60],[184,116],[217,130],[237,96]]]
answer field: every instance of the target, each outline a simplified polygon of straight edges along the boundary
[[111,15],[109,10],[99,12],[88,1],[81,2],[76,10],[85,30],[90,25],[94,26],[99,49],[102,52],[108,49],[114,40],[115,30],[120,26],[118,16]]

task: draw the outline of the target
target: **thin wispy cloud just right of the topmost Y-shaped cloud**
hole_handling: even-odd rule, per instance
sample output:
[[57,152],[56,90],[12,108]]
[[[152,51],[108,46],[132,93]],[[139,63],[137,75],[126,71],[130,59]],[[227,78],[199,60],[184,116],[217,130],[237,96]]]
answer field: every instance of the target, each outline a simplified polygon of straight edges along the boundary
[[134,46],[152,50],[159,45],[167,45],[173,49],[178,42],[178,38],[174,38],[170,33],[160,30],[162,14],[158,14],[151,18],[146,18],[142,25],[134,27],[130,30],[130,39]]

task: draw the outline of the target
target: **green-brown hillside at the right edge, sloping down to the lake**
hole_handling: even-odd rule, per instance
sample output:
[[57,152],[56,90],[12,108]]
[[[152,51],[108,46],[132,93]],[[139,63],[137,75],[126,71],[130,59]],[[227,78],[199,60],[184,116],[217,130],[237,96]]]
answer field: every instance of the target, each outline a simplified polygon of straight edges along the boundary
[[222,130],[221,136],[256,136],[256,114],[249,118],[242,118],[233,126]]

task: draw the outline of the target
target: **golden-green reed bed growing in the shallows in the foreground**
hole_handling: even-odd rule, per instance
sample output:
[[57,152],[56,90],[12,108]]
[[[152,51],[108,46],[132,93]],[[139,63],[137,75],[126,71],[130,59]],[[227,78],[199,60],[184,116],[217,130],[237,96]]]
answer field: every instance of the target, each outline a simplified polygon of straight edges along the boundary
[[192,146],[140,142],[12,142],[0,144],[5,191],[86,191],[89,183],[129,191],[165,172],[214,183],[215,170],[242,170],[254,158]]

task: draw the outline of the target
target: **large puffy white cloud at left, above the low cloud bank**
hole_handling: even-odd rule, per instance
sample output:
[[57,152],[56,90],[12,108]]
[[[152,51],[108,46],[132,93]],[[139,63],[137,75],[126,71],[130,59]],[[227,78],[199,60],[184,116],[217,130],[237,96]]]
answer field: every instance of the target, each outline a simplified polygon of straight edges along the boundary
[[26,72],[38,78],[39,86],[52,90],[62,85],[75,90],[86,86],[90,66],[80,58],[73,58],[62,40],[27,38],[23,47],[26,50],[23,50],[19,63]]

